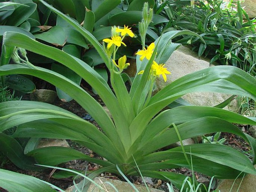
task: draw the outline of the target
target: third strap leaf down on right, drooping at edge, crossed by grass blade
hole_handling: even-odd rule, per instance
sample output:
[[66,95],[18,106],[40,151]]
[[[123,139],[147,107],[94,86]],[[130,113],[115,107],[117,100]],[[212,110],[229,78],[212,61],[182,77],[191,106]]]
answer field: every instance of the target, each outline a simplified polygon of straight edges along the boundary
[[[216,118],[216,117],[197,118],[195,120],[177,125],[177,128],[179,130],[179,133],[181,134],[182,139],[197,137],[207,133],[214,133],[214,132],[220,132],[220,131],[234,133],[242,137],[244,140],[246,140],[252,146],[253,152],[255,152],[256,150],[255,139],[250,138],[250,136],[244,134],[243,131],[241,131],[238,127],[234,126],[232,123],[229,123],[228,121],[220,118]],[[166,128],[164,128],[163,130],[166,130]],[[166,131],[163,131],[162,133],[156,134],[155,137],[153,138],[151,137],[149,141],[142,140],[141,143],[138,143],[137,145],[139,146],[137,146],[138,148],[134,156],[140,154],[143,157],[143,154],[144,155],[150,154],[157,149],[171,145],[178,141],[179,141],[179,138],[176,134],[176,131],[174,130],[174,128],[170,128]],[[153,143],[154,143],[154,146],[152,148],[150,149],[147,148],[147,146],[152,146]],[[136,145],[133,146],[131,150],[134,148],[136,148]]]

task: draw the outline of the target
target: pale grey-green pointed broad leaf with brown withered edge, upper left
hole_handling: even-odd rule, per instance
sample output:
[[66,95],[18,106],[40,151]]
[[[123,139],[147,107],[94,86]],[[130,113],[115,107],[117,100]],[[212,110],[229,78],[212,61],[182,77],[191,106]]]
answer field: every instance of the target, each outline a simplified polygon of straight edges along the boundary
[[56,46],[64,46],[67,35],[62,27],[55,26],[46,32],[34,35],[36,38],[48,43],[56,44]]

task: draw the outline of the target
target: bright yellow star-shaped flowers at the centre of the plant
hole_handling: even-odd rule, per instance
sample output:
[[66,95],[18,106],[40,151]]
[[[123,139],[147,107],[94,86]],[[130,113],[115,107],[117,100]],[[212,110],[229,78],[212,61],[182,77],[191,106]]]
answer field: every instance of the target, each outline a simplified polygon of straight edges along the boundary
[[[119,34],[121,33],[121,36]],[[119,68],[119,72],[121,73],[123,69],[126,69],[130,64],[126,63],[126,55],[118,59],[118,64],[115,62],[115,53],[117,52],[118,47],[123,44],[126,46],[126,44],[123,42],[123,39],[126,35],[129,35],[130,37],[135,37],[133,34],[131,28],[124,25],[124,28],[112,28],[112,37],[105,38],[103,42],[107,43],[107,53],[108,55],[113,54],[112,62],[117,68]],[[139,50],[136,55],[140,55],[140,60],[142,61],[144,58],[149,60],[154,52],[155,44],[151,43],[148,48],[144,48],[144,50]],[[138,74],[142,74],[144,71],[140,71]],[[160,75],[163,76],[164,81],[167,81],[166,74],[171,74],[169,71],[167,71],[167,68],[164,68],[164,64],[157,64],[157,62],[153,62],[151,66],[151,74],[153,77],[159,77]]]

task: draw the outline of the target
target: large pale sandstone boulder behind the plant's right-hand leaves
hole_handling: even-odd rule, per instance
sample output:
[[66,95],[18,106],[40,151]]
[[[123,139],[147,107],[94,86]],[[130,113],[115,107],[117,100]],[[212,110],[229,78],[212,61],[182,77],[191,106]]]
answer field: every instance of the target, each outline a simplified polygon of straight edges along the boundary
[[[168,71],[172,72],[172,74],[167,76],[166,82],[164,82],[163,78],[157,78],[156,84],[158,89],[163,89],[167,84],[172,83],[172,81],[175,81],[184,75],[200,71],[201,69],[206,69],[210,67],[210,64],[209,59],[198,59],[196,53],[192,52],[188,47],[183,46],[173,52],[166,62],[165,67],[167,67]],[[215,106],[229,97],[230,95],[226,94],[204,92],[189,93],[184,95],[182,98],[193,105]],[[236,112],[238,110],[236,100],[233,100],[229,106],[225,107],[225,109]]]

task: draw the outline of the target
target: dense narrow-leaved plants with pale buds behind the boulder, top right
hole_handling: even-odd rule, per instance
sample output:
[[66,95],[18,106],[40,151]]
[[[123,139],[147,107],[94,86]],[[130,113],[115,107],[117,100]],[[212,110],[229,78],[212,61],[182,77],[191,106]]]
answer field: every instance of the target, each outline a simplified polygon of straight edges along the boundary
[[188,35],[178,42],[191,44],[199,57],[208,56],[211,62],[237,66],[255,77],[255,19],[249,18],[240,1],[195,2],[191,7],[188,3],[164,1],[161,14],[170,21],[163,30],[172,27],[197,32],[206,44]]

